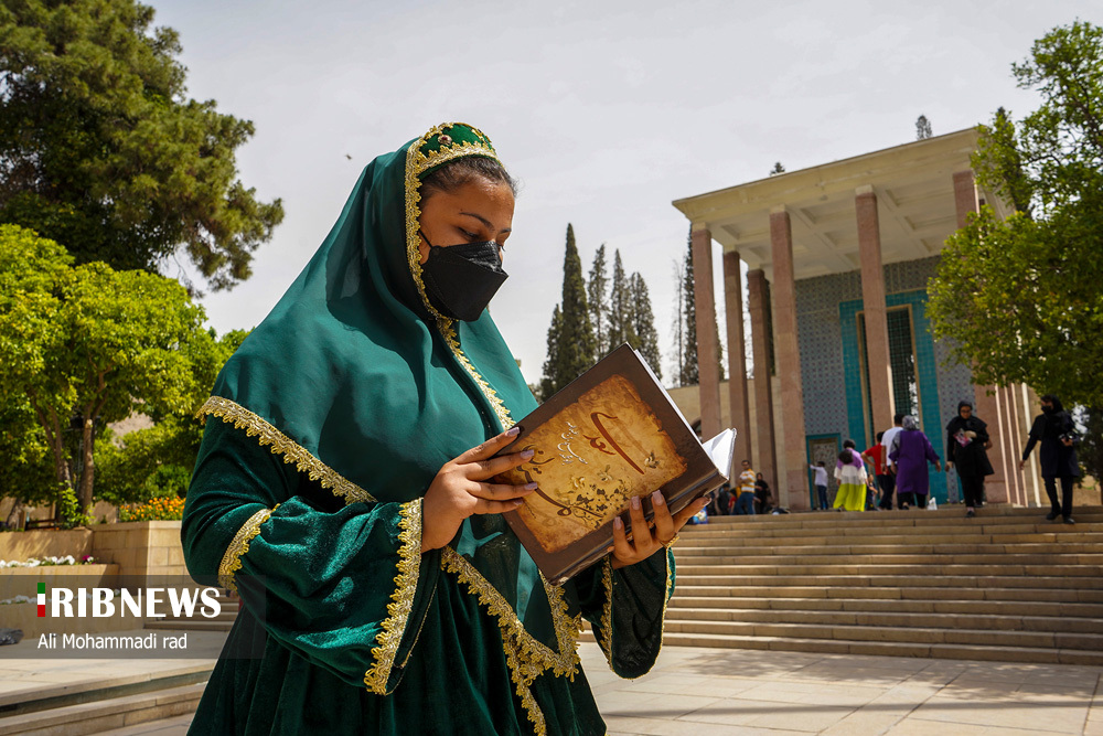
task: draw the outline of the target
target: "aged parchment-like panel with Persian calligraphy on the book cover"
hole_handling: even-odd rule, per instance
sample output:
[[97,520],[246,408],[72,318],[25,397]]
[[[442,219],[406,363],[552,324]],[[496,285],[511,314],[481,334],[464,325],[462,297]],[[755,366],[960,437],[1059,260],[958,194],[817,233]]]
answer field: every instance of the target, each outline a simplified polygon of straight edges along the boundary
[[503,482],[536,482],[517,510],[540,545],[557,552],[612,521],[686,470],[674,441],[630,381],[611,375],[537,427],[512,451],[535,450]]

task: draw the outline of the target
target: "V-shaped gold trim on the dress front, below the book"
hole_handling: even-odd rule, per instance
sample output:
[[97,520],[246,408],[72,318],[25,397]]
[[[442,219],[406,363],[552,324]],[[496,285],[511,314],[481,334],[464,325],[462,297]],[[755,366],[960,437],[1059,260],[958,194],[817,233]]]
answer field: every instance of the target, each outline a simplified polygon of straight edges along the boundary
[[445,547],[440,557],[440,566],[446,572],[454,574],[460,583],[467,585],[488,612],[497,619],[499,629],[502,631],[502,649],[510,668],[510,678],[516,685],[517,697],[521,698],[522,706],[528,713],[528,719],[533,722],[534,730],[537,734],[546,734],[544,714],[540,712],[536,698],[533,697],[529,685],[548,669],[557,676],[566,676],[574,682],[579,663],[577,639],[581,631],[581,616],[570,617],[563,589],[549,585],[542,574],[540,580],[544,583],[544,590],[547,593],[548,604],[552,607],[552,620],[559,644],[559,651],[554,652],[525,630],[508,601],[482,576],[474,565],[468,562],[467,557],[451,547]]

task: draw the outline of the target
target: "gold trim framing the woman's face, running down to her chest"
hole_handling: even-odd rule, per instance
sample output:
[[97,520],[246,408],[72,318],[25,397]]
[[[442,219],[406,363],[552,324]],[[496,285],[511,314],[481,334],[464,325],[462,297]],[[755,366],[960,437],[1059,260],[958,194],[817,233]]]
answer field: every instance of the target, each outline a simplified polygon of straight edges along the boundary
[[[421,216],[421,209],[418,206],[418,202],[421,201],[421,181],[418,177],[431,167],[439,166],[464,156],[483,156],[497,160],[497,154],[494,152],[494,149],[490,147],[480,147],[474,143],[457,143],[448,149],[441,147],[439,151],[433,151],[428,157],[421,152],[421,147],[430,138],[445,128],[450,128],[453,125],[457,124],[445,122],[433,127],[429,130],[429,132],[410,143],[410,147],[406,150],[406,257],[409,260],[410,276],[414,277],[414,285],[417,287],[418,295],[421,297],[421,303],[437,320],[437,329],[440,330],[449,350],[452,351],[452,354],[456,356],[456,360],[460,362],[460,365],[463,366],[463,370],[465,370],[474,380],[475,385],[479,386],[483,395],[494,408],[494,414],[497,415],[497,419],[502,424],[502,429],[505,429],[513,424],[513,417],[510,415],[510,410],[505,407],[505,404],[502,403],[502,399],[499,398],[491,385],[479,374],[475,366],[471,364],[468,356],[463,354],[463,351],[460,348],[459,335],[456,331],[454,320],[445,317],[429,303],[429,297],[425,292],[425,281],[421,280],[421,254],[418,249],[418,246],[421,243],[420,235],[418,235],[418,227],[420,227],[418,221]],[[474,130],[480,138],[486,138],[478,129],[473,127],[471,129]]]

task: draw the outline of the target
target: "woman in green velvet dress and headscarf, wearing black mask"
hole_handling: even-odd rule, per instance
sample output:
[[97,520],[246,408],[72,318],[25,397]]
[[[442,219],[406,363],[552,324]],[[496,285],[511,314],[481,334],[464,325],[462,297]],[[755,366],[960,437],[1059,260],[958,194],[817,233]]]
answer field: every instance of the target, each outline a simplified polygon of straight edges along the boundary
[[492,480],[536,406],[485,309],[513,201],[463,124],[378,157],[223,369],[181,536],[244,606],[191,733],[603,734],[582,618],[614,672],[653,665],[704,501],[650,532],[636,504],[561,587],[500,515],[533,490]]

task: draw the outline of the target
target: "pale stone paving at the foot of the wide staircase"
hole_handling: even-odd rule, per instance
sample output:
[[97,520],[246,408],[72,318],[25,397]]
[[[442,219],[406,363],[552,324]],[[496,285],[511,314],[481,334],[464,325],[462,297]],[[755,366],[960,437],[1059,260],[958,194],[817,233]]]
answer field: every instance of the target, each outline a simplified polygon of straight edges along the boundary
[[[1103,736],[1103,668],[666,647],[620,680],[582,663],[610,736]],[[190,716],[107,732],[183,736]]]

